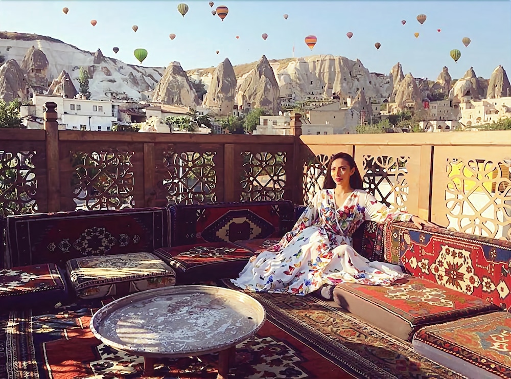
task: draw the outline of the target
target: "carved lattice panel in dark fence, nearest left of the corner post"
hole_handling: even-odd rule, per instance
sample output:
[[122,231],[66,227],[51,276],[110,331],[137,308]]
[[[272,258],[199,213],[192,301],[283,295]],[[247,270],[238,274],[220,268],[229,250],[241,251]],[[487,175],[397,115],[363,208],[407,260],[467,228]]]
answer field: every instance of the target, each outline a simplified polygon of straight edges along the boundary
[[[259,149],[245,151],[238,155],[235,167],[241,167],[239,186],[240,201],[265,201],[290,198],[286,193],[286,173],[288,171],[288,151],[278,151],[259,146]],[[240,149],[238,146],[237,149]],[[287,149],[292,148],[285,147]],[[255,150],[255,149],[254,149]],[[263,151],[261,151],[263,150]],[[266,151],[264,151],[266,150]],[[235,183],[236,184],[236,183]]]

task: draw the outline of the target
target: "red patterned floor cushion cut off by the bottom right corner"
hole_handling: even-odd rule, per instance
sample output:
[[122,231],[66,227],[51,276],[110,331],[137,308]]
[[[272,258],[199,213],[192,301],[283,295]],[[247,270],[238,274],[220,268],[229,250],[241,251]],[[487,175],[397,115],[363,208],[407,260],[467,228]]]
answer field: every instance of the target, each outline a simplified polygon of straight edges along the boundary
[[507,312],[421,328],[416,352],[467,377],[511,378],[511,315]]

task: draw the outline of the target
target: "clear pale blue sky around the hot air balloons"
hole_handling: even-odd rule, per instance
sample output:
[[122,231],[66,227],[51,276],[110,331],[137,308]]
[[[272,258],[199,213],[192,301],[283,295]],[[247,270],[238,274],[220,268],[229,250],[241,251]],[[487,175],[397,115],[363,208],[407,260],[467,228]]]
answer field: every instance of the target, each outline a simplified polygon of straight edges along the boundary
[[[370,71],[388,73],[401,62],[406,74],[436,78],[444,65],[453,77],[470,66],[478,76],[488,78],[502,64],[511,74],[511,2],[507,1],[208,1],[186,2],[190,10],[182,17],[175,1],[86,0],[6,1],[0,0],[0,29],[48,35],[87,50],[100,48],[103,54],[126,63],[138,64],[136,48],[145,48],[143,65],[165,66],[179,61],[184,70],[217,65],[225,57],[233,64],[311,54],[359,58]],[[229,8],[221,21],[211,10]],[[65,15],[62,8],[69,8]],[[287,20],[283,14],[289,14]],[[426,14],[421,25],[418,14]],[[96,19],[96,27],[90,20]],[[403,26],[401,20],[407,22]],[[138,26],[134,33],[133,25]],[[441,32],[438,33],[437,29]],[[348,39],[347,32],[353,32]],[[419,32],[419,38],[413,33]],[[171,41],[170,33],[176,38]],[[262,33],[267,33],[264,41]],[[311,52],[304,42],[318,38]],[[240,38],[236,39],[236,35]],[[469,47],[461,39],[471,38]],[[376,50],[375,42],[381,43]],[[112,52],[114,46],[119,53]],[[457,64],[449,57],[458,49]],[[220,53],[217,55],[216,50]]]

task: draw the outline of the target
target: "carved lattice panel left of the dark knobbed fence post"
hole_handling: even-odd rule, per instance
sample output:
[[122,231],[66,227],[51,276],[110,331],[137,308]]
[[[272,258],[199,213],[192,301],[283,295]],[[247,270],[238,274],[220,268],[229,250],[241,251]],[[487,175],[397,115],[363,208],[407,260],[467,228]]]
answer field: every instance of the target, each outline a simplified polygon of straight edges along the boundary
[[[3,143],[4,145],[5,143]],[[44,143],[9,142],[0,150],[0,215],[44,212],[47,204]]]

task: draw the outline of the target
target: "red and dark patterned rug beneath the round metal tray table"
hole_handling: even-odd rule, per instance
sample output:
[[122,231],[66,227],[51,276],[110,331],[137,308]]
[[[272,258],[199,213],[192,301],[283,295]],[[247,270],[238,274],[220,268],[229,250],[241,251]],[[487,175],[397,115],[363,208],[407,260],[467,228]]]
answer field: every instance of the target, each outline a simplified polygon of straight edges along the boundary
[[[111,300],[110,300],[111,301]],[[97,340],[88,325],[109,301],[79,303],[39,312],[0,315],[0,378],[135,379],[144,377],[141,357]],[[218,354],[158,361],[158,378],[216,378]],[[237,346],[230,373],[237,378],[353,378],[286,328],[266,321],[256,336]]]

